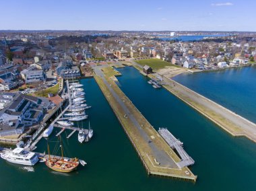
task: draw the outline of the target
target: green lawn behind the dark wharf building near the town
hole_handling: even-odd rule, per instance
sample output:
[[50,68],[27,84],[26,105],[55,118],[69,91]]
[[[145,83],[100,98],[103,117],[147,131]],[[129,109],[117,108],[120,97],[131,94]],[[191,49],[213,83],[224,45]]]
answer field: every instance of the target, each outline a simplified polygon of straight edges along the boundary
[[163,69],[164,67],[179,67],[160,59],[143,59],[135,61],[135,63],[138,63],[141,66],[148,65],[149,67],[152,67],[153,70]]

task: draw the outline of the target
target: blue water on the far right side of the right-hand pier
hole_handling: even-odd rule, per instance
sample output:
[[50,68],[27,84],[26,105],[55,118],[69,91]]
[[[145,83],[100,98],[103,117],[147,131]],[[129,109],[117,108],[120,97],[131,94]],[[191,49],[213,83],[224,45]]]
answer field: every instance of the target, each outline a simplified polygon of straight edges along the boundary
[[173,79],[256,122],[256,67],[182,74]]

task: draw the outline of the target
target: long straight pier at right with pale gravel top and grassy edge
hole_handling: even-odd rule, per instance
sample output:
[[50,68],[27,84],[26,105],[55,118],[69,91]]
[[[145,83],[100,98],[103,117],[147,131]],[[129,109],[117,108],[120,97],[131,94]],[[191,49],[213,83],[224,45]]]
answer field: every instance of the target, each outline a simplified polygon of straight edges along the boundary
[[168,91],[183,100],[186,104],[209,118],[218,126],[229,132],[234,137],[247,137],[256,142],[256,124],[239,116],[238,114],[220,106],[216,102],[205,98],[203,95],[177,83],[170,78],[164,77],[163,85]]

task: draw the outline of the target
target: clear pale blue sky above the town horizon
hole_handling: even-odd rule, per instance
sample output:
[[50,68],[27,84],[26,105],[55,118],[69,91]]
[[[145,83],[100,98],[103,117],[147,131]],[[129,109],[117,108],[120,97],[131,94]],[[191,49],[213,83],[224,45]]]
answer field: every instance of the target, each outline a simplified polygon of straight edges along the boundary
[[255,0],[1,0],[0,30],[256,31]]

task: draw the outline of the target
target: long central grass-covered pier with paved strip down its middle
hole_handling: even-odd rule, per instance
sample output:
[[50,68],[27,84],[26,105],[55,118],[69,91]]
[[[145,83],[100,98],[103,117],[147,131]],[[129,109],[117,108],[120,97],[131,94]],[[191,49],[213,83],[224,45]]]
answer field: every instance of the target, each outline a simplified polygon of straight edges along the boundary
[[113,76],[105,76],[101,67],[95,67],[94,72],[96,82],[123,126],[148,174],[195,181],[197,176],[193,175],[188,167],[179,167],[177,163],[181,159],[121,91],[113,81]]

